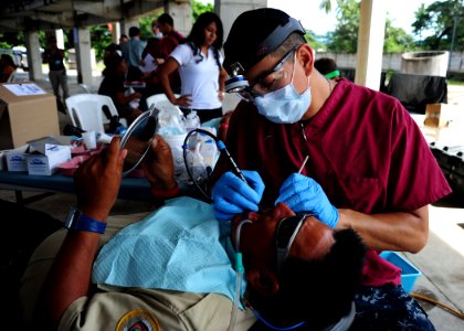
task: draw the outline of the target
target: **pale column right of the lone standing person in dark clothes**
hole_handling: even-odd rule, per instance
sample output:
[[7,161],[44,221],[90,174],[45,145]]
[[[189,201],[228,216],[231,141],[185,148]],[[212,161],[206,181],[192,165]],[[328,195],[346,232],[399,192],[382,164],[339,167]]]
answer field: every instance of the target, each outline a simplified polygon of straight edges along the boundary
[[74,28],[74,44],[76,50],[77,83],[92,86],[92,68],[95,58],[92,58],[89,29]]

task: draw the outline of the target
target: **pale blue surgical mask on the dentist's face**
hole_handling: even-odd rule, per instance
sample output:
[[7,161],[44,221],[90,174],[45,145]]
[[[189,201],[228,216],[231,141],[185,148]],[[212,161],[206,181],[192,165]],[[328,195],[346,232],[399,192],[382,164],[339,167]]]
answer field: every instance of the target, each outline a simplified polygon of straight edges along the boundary
[[297,122],[310,106],[310,87],[307,87],[304,93],[298,94],[293,86],[294,74],[295,60],[293,63],[292,81],[288,85],[263,96],[255,97],[254,99],[257,111],[275,124]]

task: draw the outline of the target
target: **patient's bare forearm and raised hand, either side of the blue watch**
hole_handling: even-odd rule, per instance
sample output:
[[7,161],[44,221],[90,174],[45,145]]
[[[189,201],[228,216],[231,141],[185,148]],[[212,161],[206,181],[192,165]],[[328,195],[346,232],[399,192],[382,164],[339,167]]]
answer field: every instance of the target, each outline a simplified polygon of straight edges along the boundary
[[[117,197],[126,156],[126,150],[119,150],[119,137],[113,138],[109,147],[84,162],[74,177],[78,209],[105,223]],[[38,323],[45,330],[56,330],[67,307],[87,296],[99,237],[85,231],[67,233],[39,300]]]

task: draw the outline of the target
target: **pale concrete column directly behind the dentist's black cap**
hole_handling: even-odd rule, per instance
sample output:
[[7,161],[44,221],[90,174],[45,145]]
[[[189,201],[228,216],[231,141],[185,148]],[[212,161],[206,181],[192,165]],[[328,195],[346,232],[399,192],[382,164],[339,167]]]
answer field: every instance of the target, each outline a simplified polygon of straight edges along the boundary
[[[214,11],[221,18],[224,26],[224,42],[228,40],[232,23],[244,11],[266,8],[267,0],[214,0]],[[253,29],[250,30],[253,33]]]

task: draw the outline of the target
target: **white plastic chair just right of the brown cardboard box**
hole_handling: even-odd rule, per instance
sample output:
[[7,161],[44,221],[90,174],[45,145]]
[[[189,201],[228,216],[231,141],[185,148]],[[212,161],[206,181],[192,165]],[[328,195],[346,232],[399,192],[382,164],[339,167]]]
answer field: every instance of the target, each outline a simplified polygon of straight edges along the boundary
[[[109,124],[109,118],[103,113],[104,106],[108,107],[112,116],[118,116],[112,98],[106,95],[77,94],[70,96],[65,102],[73,126],[85,131],[105,131],[104,125]],[[120,119],[119,122],[127,126],[126,119]]]

